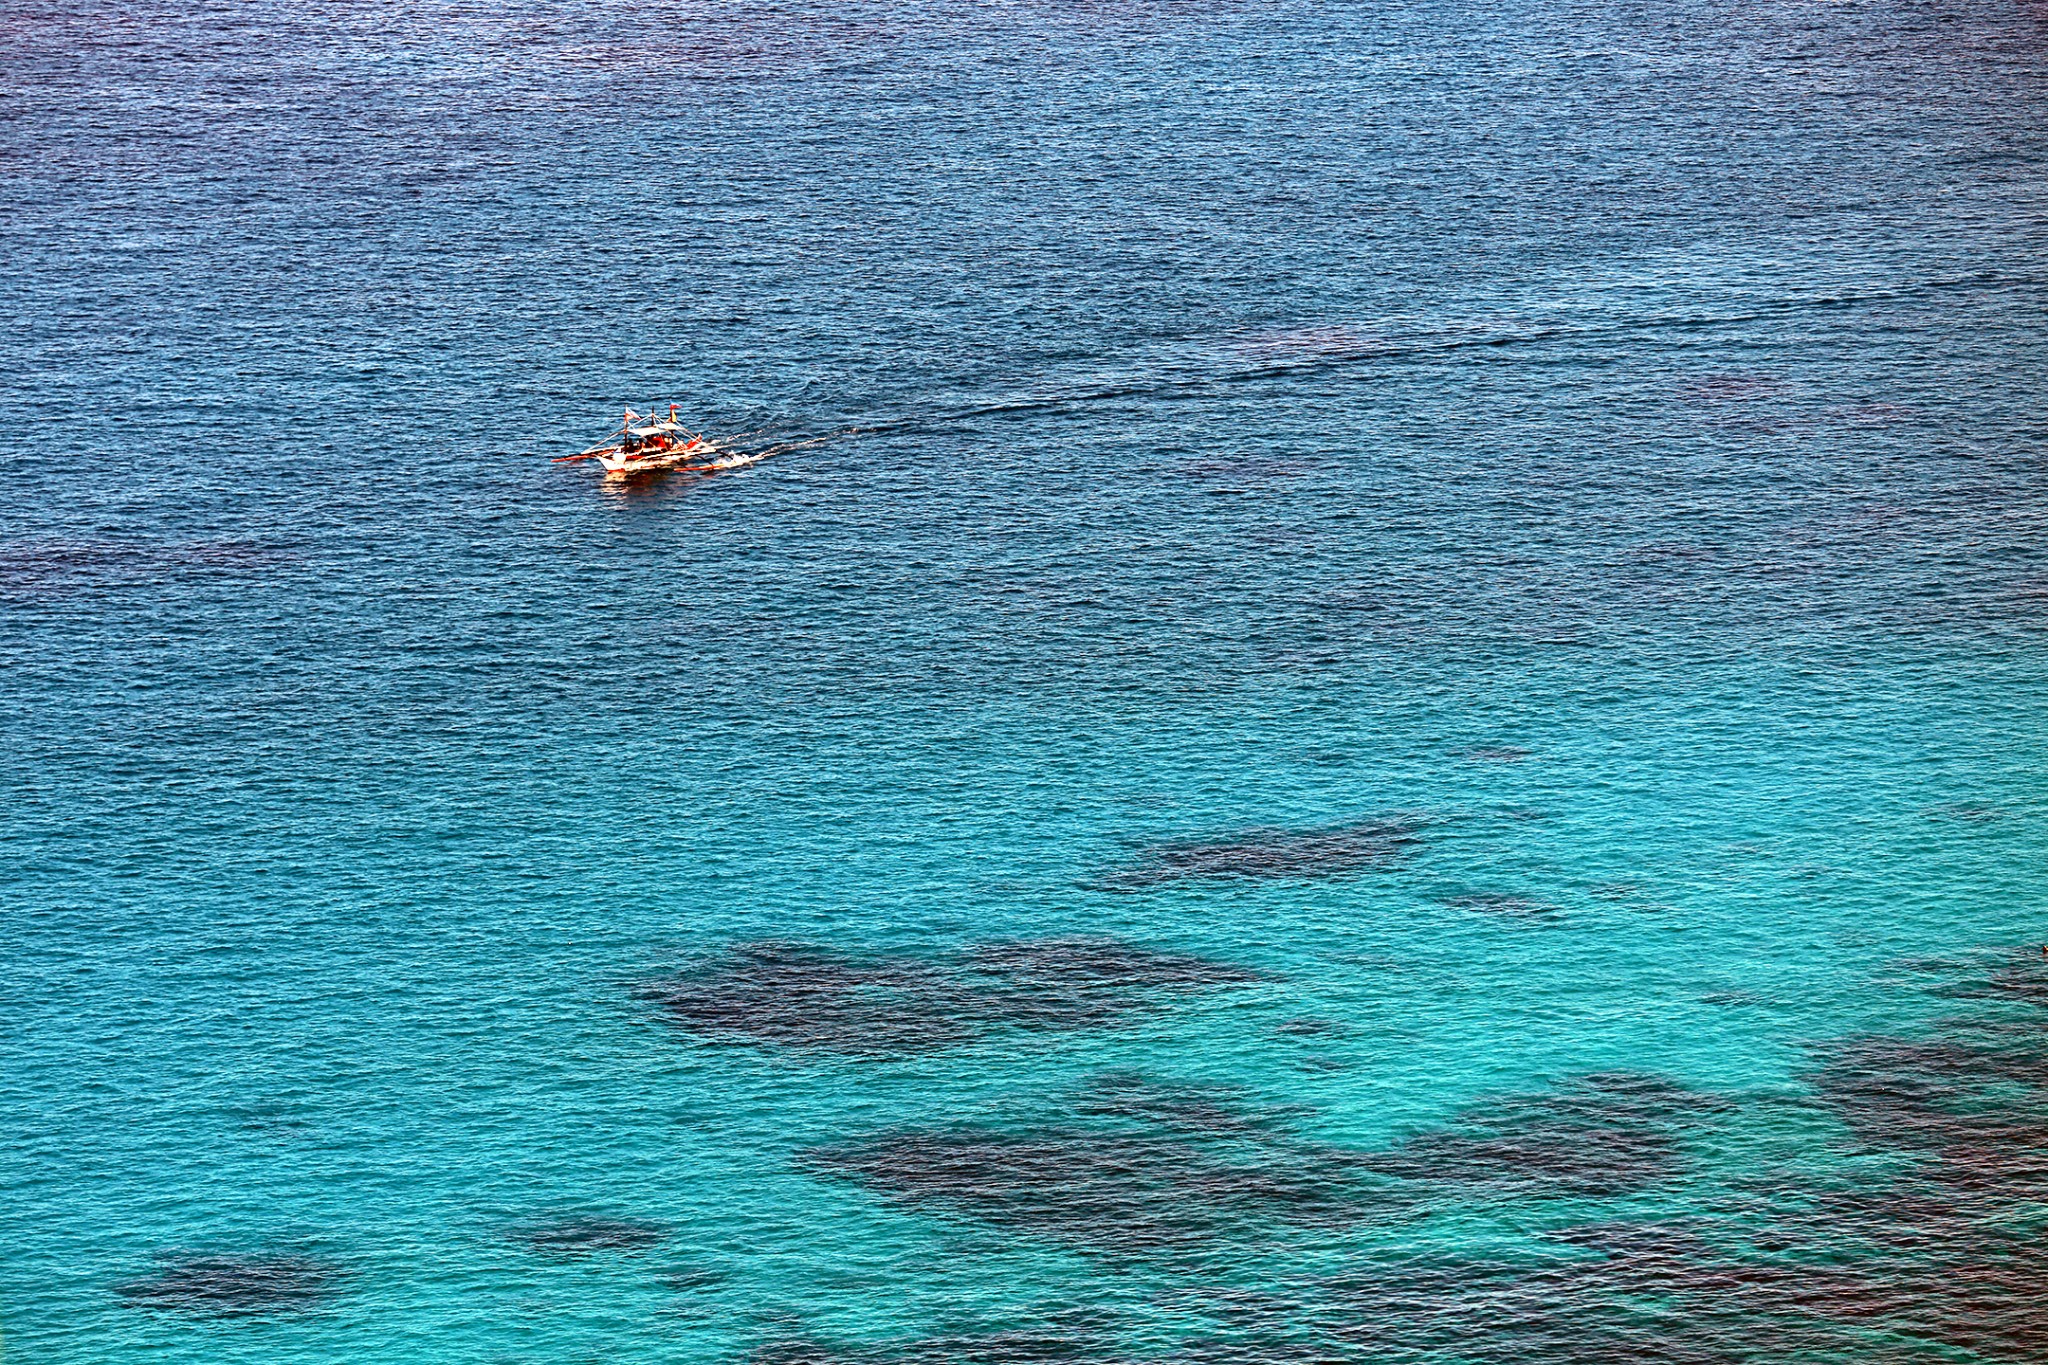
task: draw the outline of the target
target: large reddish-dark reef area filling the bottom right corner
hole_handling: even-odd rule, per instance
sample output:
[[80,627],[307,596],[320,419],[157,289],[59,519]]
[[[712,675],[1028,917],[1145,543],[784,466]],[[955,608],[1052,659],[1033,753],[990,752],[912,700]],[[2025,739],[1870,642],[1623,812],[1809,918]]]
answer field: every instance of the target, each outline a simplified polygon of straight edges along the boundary
[[1862,1152],[1898,1158],[1876,1175],[1767,1183],[1769,1205],[1739,1222],[1563,1232],[1597,1259],[1475,1273],[1438,1297],[1380,1281],[1370,1320],[1321,1326],[1378,1349],[1468,1330],[1477,1361],[2048,1359],[2044,986],[2048,970],[2021,954],[1937,993],[2019,1001],[2030,1019],[1815,1048],[1819,1107]]

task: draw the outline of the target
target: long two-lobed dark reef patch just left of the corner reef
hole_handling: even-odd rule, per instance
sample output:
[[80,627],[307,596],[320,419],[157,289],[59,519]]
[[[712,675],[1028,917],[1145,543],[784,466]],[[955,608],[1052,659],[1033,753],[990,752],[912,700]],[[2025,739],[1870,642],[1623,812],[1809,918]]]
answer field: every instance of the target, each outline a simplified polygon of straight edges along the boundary
[[1657,1076],[1583,1076],[1368,1152],[1300,1138],[1290,1128],[1298,1107],[1112,1072],[1032,1126],[897,1130],[801,1160],[903,1207],[1159,1257],[1403,1216],[1444,1189],[1483,1199],[1636,1191],[1681,1171],[1669,1130],[1724,1103]]

